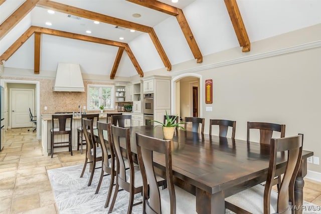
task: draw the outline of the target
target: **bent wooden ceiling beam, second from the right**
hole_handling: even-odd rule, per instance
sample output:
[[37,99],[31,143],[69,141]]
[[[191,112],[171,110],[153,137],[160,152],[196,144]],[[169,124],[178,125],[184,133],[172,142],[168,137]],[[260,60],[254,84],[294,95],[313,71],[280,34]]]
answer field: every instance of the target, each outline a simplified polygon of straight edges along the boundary
[[200,48],[196,43],[192,30],[181,9],[167,5],[162,2],[158,2],[156,0],[126,0],[126,1],[146,7],[146,8],[153,9],[171,16],[175,16],[177,21],[179,22],[179,25],[183,31],[183,34],[185,36],[187,43],[190,46],[193,56],[197,60],[197,63],[203,62],[203,56],[200,51]]

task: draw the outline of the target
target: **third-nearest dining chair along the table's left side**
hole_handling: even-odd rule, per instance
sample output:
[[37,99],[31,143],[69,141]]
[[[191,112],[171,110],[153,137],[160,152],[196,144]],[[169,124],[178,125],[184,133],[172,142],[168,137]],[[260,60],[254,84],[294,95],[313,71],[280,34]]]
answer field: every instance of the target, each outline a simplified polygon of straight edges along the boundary
[[95,194],[98,193],[102,178],[104,177],[104,173],[110,175],[110,182],[109,182],[109,189],[108,195],[105,202],[105,208],[109,204],[109,200],[111,197],[112,187],[114,184],[114,177],[116,175],[115,171],[115,155],[112,146],[112,139],[111,139],[111,124],[110,123],[103,123],[97,122],[97,130],[98,130],[98,142],[100,144],[102,150],[102,163],[101,163],[101,173],[99,182],[96,188]]

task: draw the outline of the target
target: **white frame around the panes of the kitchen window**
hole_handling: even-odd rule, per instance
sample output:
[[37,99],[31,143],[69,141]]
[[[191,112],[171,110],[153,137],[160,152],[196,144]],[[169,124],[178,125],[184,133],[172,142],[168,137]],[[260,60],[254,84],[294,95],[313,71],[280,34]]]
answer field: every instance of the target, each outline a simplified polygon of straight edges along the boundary
[[[90,101],[91,101],[91,94],[90,94],[90,88],[98,88],[99,91],[99,105],[98,108],[90,108]],[[102,103],[101,97],[102,97],[102,88],[110,88],[110,108],[104,107],[104,110],[115,110],[115,86],[114,85],[99,85],[99,84],[88,84],[87,85],[87,111],[96,111],[96,110],[100,110],[99,106]]]

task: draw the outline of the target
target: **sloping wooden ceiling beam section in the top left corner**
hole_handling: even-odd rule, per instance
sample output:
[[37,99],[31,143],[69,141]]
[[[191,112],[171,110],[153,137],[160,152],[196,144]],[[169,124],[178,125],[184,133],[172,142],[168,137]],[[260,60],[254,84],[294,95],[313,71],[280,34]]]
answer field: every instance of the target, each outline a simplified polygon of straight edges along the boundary
[[[0,25],[0,39],[13,29],[36,6],[38,1],[39,0],[26,0],[24,4],[8,17],[5,22]],[[2,3],[4,2],[5,1]]]

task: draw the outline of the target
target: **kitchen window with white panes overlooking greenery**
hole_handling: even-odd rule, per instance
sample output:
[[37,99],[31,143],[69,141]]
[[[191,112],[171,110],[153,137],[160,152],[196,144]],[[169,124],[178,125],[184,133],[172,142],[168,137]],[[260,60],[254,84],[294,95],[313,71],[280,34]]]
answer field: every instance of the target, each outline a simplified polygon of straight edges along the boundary
[[87,86],[88,110],[114,109],[114,86],[112,85],[88,85]]

